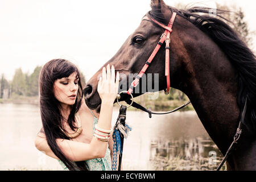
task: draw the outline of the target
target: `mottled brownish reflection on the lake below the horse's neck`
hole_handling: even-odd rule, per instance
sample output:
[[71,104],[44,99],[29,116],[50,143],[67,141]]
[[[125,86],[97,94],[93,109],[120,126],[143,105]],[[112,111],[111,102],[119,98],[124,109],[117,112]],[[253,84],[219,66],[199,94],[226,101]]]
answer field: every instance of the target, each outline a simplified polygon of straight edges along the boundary
[[208,137],[151,141],[150,162],[155,170],[214,170],[221,159]]

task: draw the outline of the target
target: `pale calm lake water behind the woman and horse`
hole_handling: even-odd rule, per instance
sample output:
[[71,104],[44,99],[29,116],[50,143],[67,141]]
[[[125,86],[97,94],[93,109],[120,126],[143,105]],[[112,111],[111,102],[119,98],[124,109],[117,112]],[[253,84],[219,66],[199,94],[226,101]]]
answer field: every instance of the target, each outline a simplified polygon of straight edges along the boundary
[[[222,159],[195,111],[148,118],[127,110],[126,115],[132,131],[124,142],[123,170],[214,170]],[[38,105],[0,104],[0,170],[62,170],[57,160],[35,148],[41,127]]]

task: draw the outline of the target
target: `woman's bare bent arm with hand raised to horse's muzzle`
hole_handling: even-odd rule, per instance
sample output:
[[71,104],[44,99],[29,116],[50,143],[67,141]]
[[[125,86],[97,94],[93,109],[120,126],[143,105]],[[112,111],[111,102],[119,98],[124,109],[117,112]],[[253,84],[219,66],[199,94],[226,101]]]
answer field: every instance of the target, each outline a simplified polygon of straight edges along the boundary
[[[115,81],[115,71],[112,68],[110,73],[110,67],[108,65],[108,71],[102,69],[102,78],[98,82],[98,93],[101,97],[101,110],[100,117],[98,119],[98,127],[101,129],[109,130],[112,121],[113,102],[117,96],[119,84],[119,73]],[[41,135],[41,136],[40,136]],[[39,151],[43,151],[46,155],[52,158],[58,159],[48,146],[46,135],[42,132],[36,137],[35,146]],[[103,142],[93,137],[89,144],[76,142],[67,139],[56,139],[57,145],[63,154],[71,161],[82,161],[95,158],[103,158],[106,153],[106,147],[108,142]]]

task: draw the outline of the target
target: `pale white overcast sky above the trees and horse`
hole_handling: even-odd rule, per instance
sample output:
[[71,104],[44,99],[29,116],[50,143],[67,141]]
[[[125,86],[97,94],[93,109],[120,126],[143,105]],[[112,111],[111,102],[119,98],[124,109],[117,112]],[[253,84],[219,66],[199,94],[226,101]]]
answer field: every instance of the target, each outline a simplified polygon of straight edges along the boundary
[[[89,80],[139,26],[150,1],[0,0],[0,74],[12,80],[17,68],[31,74],[36,66],[62,58]],[[216,7],[214,0],[164,2]],[[256,31],[256,1],[217,2],[241,7],[250,31]]]

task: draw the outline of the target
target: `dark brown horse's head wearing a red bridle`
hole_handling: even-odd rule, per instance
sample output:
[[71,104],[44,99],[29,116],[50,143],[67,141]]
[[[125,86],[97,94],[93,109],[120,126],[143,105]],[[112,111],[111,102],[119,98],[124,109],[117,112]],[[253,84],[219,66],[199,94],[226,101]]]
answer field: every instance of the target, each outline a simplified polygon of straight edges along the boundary
[[[168,25],[168,22],[172,16],[172,10],[170,7],[165,5],[162,0],[159,0],[151,1],[151,8],[152,10],[149,11],[146,16]],[[177,16],[170,36],[170,77],[171,86],[174,88],[177,84],[182,82],[181,79],[184,76],[183,73],[179,71],[179,68],[183,67],[183,65],[188,65],[185,63],[185,61],[189,61],[187,51],[184,48],[186,45],[184,44],[188,42],[191,43],[192,41],[190,40],[191,36],[185,35],[179,30],[184,29],[184,26],[187,26],[189,29],[190,24],[191,23],[184,18]],[[195,28],[193,30],[195,30]],[[191,30],[189,34],[193,35],[193,30]],[[108,64],[114,65],[115,71],[119,71],[121,78],[119,91],[129,89],[131,82],[143,68],[148,57],[150,57],[152,51],[158,44],[163,32],[163,27],[158,26],[158,24],[152,22],[150,19],[145,20],[143,18],[139,27],[126,39],[125,43],[123,43],[122,47],[118,50],[114,57],[112,57],[112,59],[102,66],[105,67]],[[187,40],[181,42],[180,37]],[[196,38],[197,35],[195,34],[193,37]],[[152,85],[157,87],[157,89],[155,89],[153,92],[166,88],[167,81],[165,76],[165,56],[165,46],[163,45],[160,47],[158,53],[156,53],[154,60],[152,60],[150,66],[145,72],[144,80],[142,78],[139,82],[138,88],[136,88],[137,90],[134,89],[134,97],[137,97],[145,92],[152,92],[152,90],[148,89],[149,87],[152,88]],[[97,84],[98,78],[101,74],[101,69],[99,69],[99,71],[96,72],[92,78],[90,78],[84,89],[86,104],[91,109],[97,109],[97,111],[100,111],[101,104],[100,97],[97,93]],[[172,79],[173,77],[179,77],[179,83],[175,83]],[[126,100],[127,98],[129,98],[128,94],[122,94],[121,100]]]

